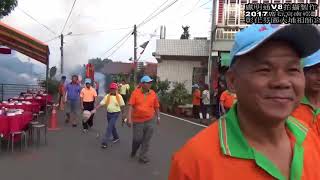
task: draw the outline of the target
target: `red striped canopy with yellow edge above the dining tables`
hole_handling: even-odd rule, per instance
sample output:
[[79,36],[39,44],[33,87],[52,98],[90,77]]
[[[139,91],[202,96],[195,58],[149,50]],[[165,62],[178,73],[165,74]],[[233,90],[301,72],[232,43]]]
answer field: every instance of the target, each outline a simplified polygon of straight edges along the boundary
[[[49,47],[43,42],[0,21],[0,45],[14,49],[47,66],[46,80],[49,76]],[[48,87],[48,86],[47,86]]]

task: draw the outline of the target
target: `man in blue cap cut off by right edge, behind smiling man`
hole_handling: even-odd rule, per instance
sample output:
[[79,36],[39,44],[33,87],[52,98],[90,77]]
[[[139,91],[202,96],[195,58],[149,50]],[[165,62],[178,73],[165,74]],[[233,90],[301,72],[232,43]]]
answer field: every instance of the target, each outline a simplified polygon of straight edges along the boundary
[[303,60],[305,96],[292,116],[303,121],[320,136],[320,50]]

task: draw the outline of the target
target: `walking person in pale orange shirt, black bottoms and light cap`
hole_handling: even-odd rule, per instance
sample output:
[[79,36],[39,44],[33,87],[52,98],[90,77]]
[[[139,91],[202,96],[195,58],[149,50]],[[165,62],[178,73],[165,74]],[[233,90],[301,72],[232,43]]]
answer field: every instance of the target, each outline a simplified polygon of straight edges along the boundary
[[[87,78],[84,81],[85,87],[80,92],[80,102],[82,111],[92,111],[97,98],[96,90],[91,86],[91,79]],[[93,126],[94,114],[91,114],[87,121],[82,122],[83,132],[88,132],[88,128]]]

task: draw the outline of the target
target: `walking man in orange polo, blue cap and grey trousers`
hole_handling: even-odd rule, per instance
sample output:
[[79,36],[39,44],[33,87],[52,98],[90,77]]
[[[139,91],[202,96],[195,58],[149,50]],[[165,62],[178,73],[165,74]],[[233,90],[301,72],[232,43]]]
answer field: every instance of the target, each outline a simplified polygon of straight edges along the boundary
[[133,126],[131,157],[134,158],[141,146],[139,162],[148,163],[150,141],[154,131],[154,119],[160,124],[159,100],[151,90],[153,80],[149,76],[142,77],[141,88],[134,90],[129,100],[128,125]]

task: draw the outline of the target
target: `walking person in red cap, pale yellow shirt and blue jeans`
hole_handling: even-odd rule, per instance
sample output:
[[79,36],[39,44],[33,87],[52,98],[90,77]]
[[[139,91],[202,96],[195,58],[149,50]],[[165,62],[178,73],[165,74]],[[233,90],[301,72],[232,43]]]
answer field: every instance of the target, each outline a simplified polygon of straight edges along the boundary
[[121,107],[125,106],[122,96],[118,93],[118,85],[116,83],[110,84],[109,92],[110,93],[107,94],[100,102],[100,105],[92,111],[92,113],[95,113],[101,106],[105,106],[107,108],[108,124],[101,143],[101,148],[103,149],[108,148],[111,136],[113,136],[112,143],[117,143],[120,140],[116,129],[116,122],[121,113]]

